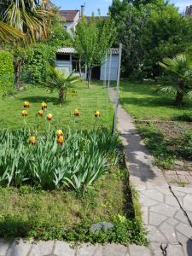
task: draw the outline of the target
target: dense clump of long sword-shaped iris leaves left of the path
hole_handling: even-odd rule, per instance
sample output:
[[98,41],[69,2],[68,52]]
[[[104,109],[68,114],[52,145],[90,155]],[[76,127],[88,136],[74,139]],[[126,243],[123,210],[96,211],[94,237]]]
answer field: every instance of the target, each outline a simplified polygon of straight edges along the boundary
[[63,143],[58,143],[55,131],[30,140],[29,134],[32,131],[0,132],[1,185],[84,189],[108,172],[118,157],[117,137],[107,131],[69,130]]

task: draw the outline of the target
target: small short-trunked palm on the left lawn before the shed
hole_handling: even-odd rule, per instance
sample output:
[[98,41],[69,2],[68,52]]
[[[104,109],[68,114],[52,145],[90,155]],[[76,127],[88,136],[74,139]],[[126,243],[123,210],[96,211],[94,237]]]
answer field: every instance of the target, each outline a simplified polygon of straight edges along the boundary
[[60,103],[64,102],[69,87],[79,81],[79,75],[63,73],[57,68],[51,68],[50,76],[46,86],[50,91],[58,90]]

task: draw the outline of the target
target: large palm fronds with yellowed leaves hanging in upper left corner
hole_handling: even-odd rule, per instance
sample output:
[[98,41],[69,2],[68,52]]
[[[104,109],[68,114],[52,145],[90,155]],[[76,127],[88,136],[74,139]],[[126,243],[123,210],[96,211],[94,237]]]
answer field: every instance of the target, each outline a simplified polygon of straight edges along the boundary
[[38,0],[6,0],[0,3],[0,9],[1,20],[25,33],[28,42],[47,36],[49,18],[53,13]]

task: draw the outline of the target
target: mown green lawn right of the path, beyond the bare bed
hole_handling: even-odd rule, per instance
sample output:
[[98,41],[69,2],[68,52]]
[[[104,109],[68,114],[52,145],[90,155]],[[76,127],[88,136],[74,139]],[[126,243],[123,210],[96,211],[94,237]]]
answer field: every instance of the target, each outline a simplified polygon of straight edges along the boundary
[[192,112],[192,102],[185,101],[183,108],[174,104],[174,96],[160,95],[157,84],[133,83],[120,84],[120,103],[135,119],[172,120],[186,111]]

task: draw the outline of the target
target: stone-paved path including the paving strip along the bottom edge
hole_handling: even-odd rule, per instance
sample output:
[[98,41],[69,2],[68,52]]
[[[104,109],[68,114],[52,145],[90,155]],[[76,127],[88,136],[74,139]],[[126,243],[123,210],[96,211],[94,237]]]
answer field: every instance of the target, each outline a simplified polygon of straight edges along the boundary
[[[110,90],[113,101],[115,93]],[[139,191],[149,247],[108,244],[72,249],[63,241],[0,241],[0,256],[192,256],[192,188],[169,187],[137,134],[131,116],[118,110],[131,183]]]

